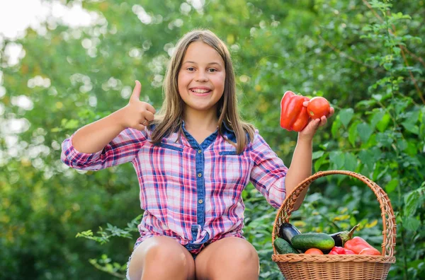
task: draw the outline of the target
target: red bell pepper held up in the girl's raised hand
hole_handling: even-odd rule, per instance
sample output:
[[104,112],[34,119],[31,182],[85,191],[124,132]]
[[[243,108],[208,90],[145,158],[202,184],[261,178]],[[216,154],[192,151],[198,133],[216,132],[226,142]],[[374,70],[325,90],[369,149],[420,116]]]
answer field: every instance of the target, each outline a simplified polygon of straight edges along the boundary
[[310,119],[307,107],[302,103],[309,100],[310,98],[296,95],[292,91],[285,92],[280,100],[280,127],[289,131],[302,131]]

